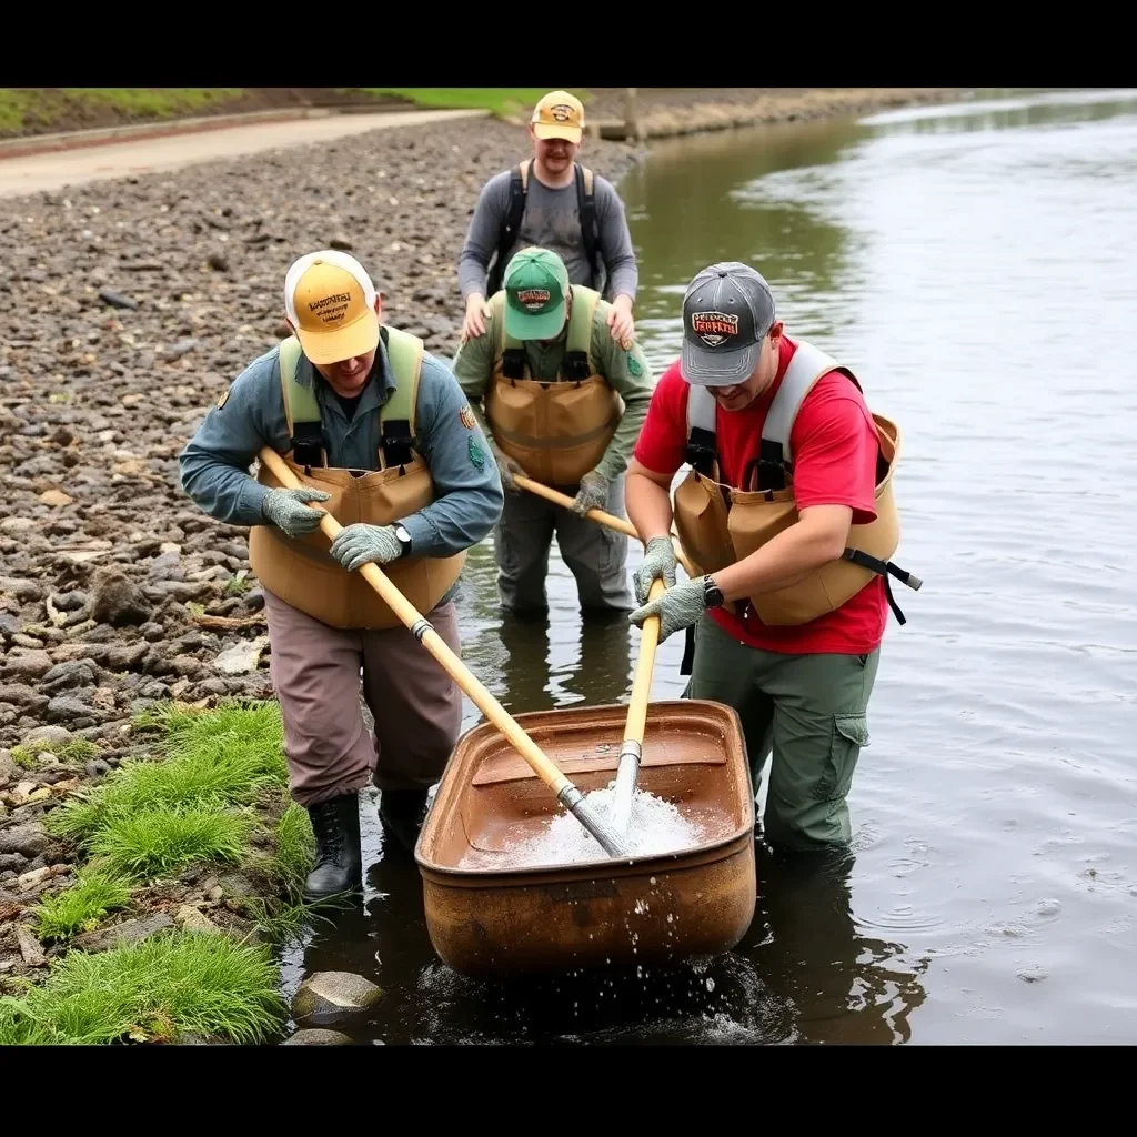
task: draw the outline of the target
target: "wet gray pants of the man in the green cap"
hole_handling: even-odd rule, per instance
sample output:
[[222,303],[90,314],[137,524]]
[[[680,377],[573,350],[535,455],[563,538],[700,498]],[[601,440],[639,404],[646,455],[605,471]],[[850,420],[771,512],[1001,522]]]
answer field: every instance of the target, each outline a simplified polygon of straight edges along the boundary
[[[578,487],[553,489],[575,497]],[[604,508],[626,518],[622,476],[608,484]],[[525,613],[548,608],[545,578],[554,533],[562,559],[576,578],[582,609],[631,612],[636,607],[626,572],[628,538],[529,490],[520,490],[506,493],[505,508],[493,530],[498,595],[504,608]]]

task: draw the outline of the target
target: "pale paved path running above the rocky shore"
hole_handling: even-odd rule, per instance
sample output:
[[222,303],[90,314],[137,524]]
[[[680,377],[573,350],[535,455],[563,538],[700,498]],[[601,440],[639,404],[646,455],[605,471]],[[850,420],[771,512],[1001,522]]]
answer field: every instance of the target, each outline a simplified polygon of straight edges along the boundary
[[283,123],[254,123],[194,131],[165,138],[140,138],[84,146],[74,150],[3,158],[0,155],[0,198],[65,185],[176,169],[197,161],[234,158],[259,150],[326,142],[390,126],[418,126],[447,118],[484,117],[483,110],[401,110],[330,115]]

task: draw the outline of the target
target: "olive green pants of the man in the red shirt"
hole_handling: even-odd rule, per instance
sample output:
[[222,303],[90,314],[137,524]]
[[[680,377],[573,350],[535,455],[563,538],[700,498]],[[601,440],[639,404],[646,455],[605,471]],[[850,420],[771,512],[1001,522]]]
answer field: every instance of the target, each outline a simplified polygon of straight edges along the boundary
[[847,844],[845,804],[861,747],[880,648],[868,655],[760,652],[703,616],[684,695],[733,707],[741,719],[757,796],[771,756],[763,829],[772,846]]

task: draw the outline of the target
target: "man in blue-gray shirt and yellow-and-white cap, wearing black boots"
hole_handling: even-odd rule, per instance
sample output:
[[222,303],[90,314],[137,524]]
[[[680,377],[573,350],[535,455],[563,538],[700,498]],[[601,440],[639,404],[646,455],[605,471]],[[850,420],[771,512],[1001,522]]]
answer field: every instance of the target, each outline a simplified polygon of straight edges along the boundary
[[[356,570],[382,566],[458,654],[453,596],[465,550],[493,528],[504,496],[454,375],[422,340],[381,324],[358,260],[327,249],[301,257],[284,302],[296,334],[236,376],[180,462],[205,513],[250,526],[290,790],[316,836],[305,893],[319,899],[360,885],[357,795],[368,782],[389,846],[413,849],[462,727],[460,689]],[[249,473],[264,447],[299,489],[264,464]],[[331,542],[325,509],[343,526]]]

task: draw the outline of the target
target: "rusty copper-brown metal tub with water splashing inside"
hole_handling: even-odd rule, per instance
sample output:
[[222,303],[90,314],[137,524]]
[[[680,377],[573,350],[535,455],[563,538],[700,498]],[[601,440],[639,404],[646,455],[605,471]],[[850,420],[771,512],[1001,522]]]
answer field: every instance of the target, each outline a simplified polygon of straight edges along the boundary
[[[587,795],[615,777],[626,715],[612,704],[515,717]],[[488,976],[730,951],[757,893],[754,799],[736,712],[707,700],[652,703],[639,787],[698,821],[698,844],[615,861],[589,838],[592,861],[514,866],[509,850],[564,811],[492,723],[464,735],[415,849],[443,963]]]

